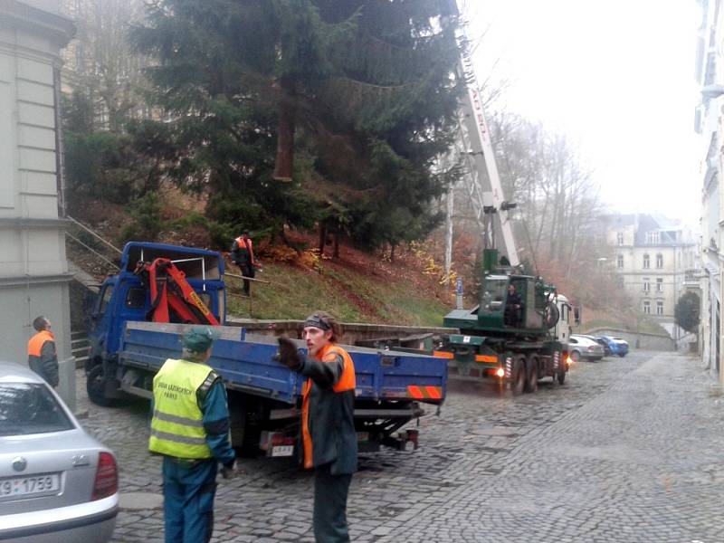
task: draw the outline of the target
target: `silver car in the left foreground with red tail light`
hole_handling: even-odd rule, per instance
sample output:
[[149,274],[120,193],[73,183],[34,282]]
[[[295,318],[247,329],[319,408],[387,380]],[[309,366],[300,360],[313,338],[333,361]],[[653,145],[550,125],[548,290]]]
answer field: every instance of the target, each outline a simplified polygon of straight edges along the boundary
[[0,540],[109,541],[116,458],[30,369],[0,362]]

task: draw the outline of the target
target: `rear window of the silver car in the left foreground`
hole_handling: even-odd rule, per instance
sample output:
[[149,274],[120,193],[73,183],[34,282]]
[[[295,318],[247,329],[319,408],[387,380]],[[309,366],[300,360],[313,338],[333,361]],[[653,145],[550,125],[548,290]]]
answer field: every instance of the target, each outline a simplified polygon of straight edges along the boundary
[[62,432],[73,427],[47,386],[0,383],[0,436]]

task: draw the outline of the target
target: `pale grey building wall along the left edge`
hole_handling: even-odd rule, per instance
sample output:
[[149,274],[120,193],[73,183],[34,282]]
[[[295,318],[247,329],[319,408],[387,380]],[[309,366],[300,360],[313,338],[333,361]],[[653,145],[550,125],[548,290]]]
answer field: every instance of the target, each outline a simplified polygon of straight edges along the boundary
[[52,10],[52,2],[0,3],[0,356],[27,364],[33,319],[51,319],[62,370],[58,390],[74,408],[55,110],[59,52],[74,28]]

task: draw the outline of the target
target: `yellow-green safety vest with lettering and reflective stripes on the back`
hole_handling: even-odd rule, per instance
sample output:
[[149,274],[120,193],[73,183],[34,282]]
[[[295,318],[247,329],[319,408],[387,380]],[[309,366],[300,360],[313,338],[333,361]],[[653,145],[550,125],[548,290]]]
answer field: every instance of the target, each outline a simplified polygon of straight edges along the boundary
[[214,371],[205,364],[167,359],[153,378],[154,411],[148,450],[176,458],[211,458],[196,391]]

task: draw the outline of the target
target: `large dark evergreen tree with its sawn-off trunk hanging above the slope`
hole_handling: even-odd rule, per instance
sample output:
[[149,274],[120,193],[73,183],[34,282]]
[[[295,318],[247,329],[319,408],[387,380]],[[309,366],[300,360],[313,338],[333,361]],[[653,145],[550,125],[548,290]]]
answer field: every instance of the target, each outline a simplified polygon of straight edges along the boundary
[[319,221],[370,246],[426,233],[458,93],[440,15],[439,0],[151,5],[134,41],[158,61],[167,175],[246,228]]

